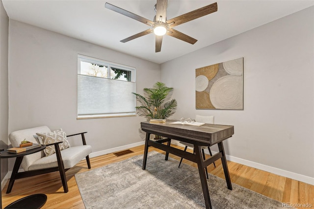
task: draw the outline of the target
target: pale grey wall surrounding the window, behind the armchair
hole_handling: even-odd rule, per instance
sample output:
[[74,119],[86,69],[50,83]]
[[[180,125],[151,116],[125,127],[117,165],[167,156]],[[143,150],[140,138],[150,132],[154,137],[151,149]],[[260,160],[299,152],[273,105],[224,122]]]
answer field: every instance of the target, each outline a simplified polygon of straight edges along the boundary
[[88,131],[93,152],[143,141],[143,117],[77,120],[78,54],[135,67],[139,93],[160,78],[156,63],[10,20],[9,132],[42,125],[68,134]]

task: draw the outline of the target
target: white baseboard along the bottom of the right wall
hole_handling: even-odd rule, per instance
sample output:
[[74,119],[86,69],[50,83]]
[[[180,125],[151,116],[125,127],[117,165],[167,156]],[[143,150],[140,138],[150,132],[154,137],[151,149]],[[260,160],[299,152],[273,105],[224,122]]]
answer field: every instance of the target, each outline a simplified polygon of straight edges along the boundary
[[[172,140],[171,143],[184,147],[184,145],[180,144],[179,141],[176,141],[176,140]],[[209,151],[208,150],[205,150],[205,153],[209,155]],[[212,155],[214,155],[217,152],[211,151],[211,153],[212,153]],[[236,162],[236,163],[240,163],[242,165],[247,165],[247,166],[250,166],[250,167],[253,167],[253,168],[257,168],[257,169],[260,169],[260,170],[263,170],[263,171],[267,171],[269,173],[277,174],[279,176],[287,177],[287,178],[294,179],[294,180],[297,180],[297,181],[300,181],[300,182],[309,183],[309,184],[314,185],[314,178],[309,177],[309,176],[304,176],[302,174],[297,174],[297,173],[293,173],[293,172],[290,172],[290,171],[282,170],[282,169],[279,169],[279,168],[271,167],[271,166],[268,166],[268,165],[263,165],[261,163],[249,161],[249,160],[242,159],[242,158],[239,158],[239,157],[233,157],[233,156],[226,155],[226,158],[227,158],[227,160],[230,160],[230,161],[233,161],[233,162]]]

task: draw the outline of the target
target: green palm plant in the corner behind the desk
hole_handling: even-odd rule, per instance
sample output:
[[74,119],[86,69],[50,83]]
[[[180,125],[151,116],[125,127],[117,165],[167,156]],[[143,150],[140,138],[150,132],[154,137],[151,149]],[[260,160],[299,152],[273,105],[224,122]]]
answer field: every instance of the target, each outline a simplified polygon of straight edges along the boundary
[[137,114],[148,118],[166,119],[177,109],[177,100],[171,99],[173,88],[162,82],[154,84],[153,88],[144,88],[144,96],[132,92],[141,106],[136,106]]

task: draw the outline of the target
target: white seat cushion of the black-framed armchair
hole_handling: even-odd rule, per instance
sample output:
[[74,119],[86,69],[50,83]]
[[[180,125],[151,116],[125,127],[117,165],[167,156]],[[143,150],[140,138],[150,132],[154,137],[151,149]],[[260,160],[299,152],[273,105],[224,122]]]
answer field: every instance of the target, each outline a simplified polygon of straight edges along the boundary
[[[91,152],[92,147],[90,145],[75,146],[62,150],[61,157],[64,168],[72,168],[84,157],[88,156]],[[55,153],[51,156],[37,159],[29,166],[28,171],[53,167],[58,167],[57,157]]]

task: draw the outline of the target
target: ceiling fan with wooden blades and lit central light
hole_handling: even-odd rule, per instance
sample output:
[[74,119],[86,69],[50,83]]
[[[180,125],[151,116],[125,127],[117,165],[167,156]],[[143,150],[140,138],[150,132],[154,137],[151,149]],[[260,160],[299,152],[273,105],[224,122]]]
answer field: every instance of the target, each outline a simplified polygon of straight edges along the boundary
[[210,13],[216,12],[217,11],[217,2],[209,4],[209,5],[204,6],[202,8],[193,10],[191,12],[185,13],[183,15],[172,18],[170,20],[167,20],[166,19],[167,1],[168,0],[157,0],[157,3],[155,5],[156,16],[154,18],[154,21],[150,21],[146,18],[138,16],[134,13],[131,13],[127,10],[124,10],[120,7],[114,6],[114,5],[107,3],[107,2],[105,3],[105,8],[110,9],[110,10],[115,11],[115,12],[118,12],[122,15],[127,16],[127,17],[130,17],[130,18],[137,20],[141,23],[144,23],[148,26],[151,26],[151,28],[149,28],[147,30],[144,30],[142,32],[139,32],[135,35],[132,35],[128,38],[121,40],[121,42],[123,42],[123,43],[131,41],[131,40],[138,38],[138,37],[141,37],[143,35],[147,35],[147,34],[154,32],[155,36],[156,36],[156,52],[161,51],[162,37],[164,34],[178,38],[178,39],[185,41],[187,43],[190,43],[190,44],[195,44],[195,42],[197,42],[196,39],[194,39],[188,35],[185,35],[184,33],[180,32],[178,30],[175,30],[173,27],[179,26],[183,23],[186,23],[186,22],[189,22],[191,20],[195,20],[197,18],[203,17],[203,16],[208,15]]

